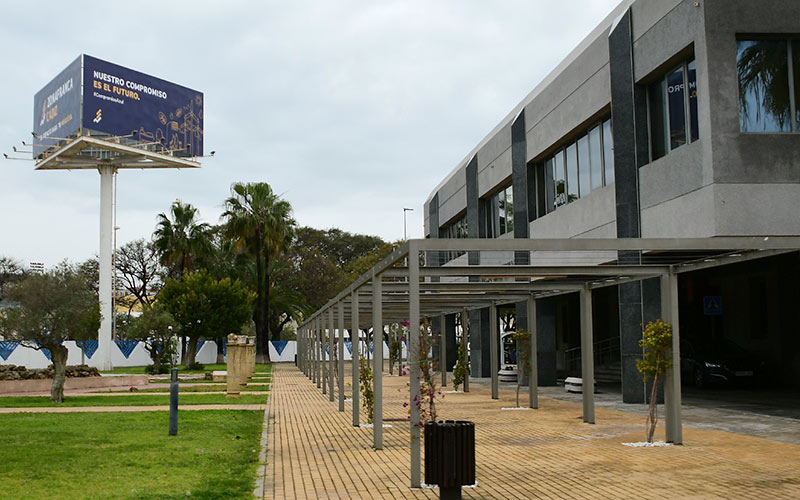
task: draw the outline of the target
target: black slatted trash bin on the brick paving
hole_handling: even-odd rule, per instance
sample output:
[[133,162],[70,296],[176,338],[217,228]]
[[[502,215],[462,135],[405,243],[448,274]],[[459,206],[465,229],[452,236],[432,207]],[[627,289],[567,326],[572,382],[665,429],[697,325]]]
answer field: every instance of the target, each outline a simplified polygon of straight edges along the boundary
[[475,423],[428,422],[424,435],[425,482],[439,485],[439,498],[460,499],[461,486],[475,484]]

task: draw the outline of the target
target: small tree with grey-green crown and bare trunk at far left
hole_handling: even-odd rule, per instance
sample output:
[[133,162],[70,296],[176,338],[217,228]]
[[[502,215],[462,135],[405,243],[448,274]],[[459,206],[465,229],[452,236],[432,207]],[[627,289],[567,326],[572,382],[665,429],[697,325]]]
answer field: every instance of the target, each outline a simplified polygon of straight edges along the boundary
[[97,292],[75,266],[66,262],[44,274],[32,274],[9,285],[6,294],[18,307],[0,313],[0,333],[6,340],[31,349],[47,349],[55,375],[50,400],[64,401],[67,348],[65,340],[94,335],[100,328]]

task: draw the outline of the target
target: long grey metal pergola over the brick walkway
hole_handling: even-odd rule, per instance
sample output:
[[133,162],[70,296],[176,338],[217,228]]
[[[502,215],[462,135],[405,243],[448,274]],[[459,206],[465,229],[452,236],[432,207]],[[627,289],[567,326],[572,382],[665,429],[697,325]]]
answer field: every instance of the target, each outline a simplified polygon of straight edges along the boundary
[[[498,398],[499,332],[497,307],[527,303],[531,332],[529,405],[537,402],[536,301],[580,294],[583,421],[595,422],[592,292],[598,288],[658,278],[661,318],[670,323],[672,368],[665,381],[668,442],[681,444],[680,331],[678,274],[800,250],[800,237],[718,237],[692,239],[425,239],[403,243],[369,272],[309,316],[298,328],[298,366],[334,401],[333,356],[338,348],[338,403],[345,411],[344,334],[351,332],[352,414],[359,425],[359,341],[365,326],[408,321],[415,332],[424,317],[490,310],[491,393]],[[532,321],[531,318],[534,320]],[[339,332],[338,338],[334,334]],[[327,332],[327,333],[326,333]],[[375,346],[382,335],[375,337]],[[334,345],[336,342],[338,345]],[[421,485],[419,338],[410,335],[409,404],[411,487]],[[374,349],[373,446],[383,447],[382,346]]]

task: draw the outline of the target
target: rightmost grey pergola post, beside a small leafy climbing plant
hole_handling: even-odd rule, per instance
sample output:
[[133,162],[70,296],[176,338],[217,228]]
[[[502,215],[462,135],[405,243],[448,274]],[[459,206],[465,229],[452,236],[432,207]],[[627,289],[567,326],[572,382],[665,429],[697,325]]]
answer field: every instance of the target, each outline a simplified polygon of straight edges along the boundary
[[678,277],[674,273],[661,276],[661,317],[672,325],[672,368],[664,380],[666,438],[668,443],[683,444]]

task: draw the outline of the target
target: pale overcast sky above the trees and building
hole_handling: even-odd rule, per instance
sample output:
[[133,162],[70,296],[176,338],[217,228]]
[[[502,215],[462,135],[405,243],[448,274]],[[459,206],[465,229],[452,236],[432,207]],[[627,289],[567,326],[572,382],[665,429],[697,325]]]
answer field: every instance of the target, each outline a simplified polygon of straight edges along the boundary
[[[121,171],[118,245],[175,199],[216,224],[234,182],[268,182],[300,225],[423,236],[431,190],[618,0],[2,1],[0,152],[79,54],[205,94],[199,170]],[[49,5],[49,6],[48,6]],[[0,159],[0,256],[98,251],[100,176]]]

